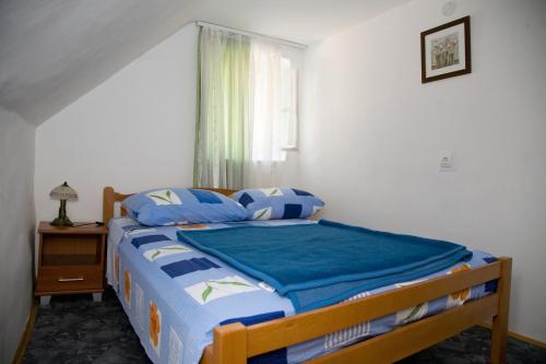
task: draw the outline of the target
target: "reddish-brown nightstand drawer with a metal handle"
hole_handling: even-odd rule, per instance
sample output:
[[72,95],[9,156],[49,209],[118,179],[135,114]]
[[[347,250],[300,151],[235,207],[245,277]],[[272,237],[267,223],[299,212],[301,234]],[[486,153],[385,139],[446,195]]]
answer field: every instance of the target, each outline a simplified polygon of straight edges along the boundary
[[41,267],[36,293],[102,290],[102,267]]

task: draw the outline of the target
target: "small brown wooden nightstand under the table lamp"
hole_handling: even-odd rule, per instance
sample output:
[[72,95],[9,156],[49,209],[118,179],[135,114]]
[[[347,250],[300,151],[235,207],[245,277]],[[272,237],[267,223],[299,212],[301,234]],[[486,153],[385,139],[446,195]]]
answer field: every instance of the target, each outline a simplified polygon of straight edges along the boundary
[[[74,225],[82,223],[74,223]],[[92,293],[100,302],[105,277],[106,228],[97,225],[52,226],[40,222],[38,227],[38,277],[34,294],[40,305],[48,305],[51,295]]]

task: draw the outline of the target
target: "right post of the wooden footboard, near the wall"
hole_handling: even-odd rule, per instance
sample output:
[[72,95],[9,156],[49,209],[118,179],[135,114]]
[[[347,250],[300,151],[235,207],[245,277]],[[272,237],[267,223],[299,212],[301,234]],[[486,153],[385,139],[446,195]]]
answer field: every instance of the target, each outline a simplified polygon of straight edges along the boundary
[[499,308],[497,316],[492,318],[491,352],[489,356],[491,364],[507,363],[508,312],[510,309],[512,258],[500,258],[499,260],[500,278],[497,287]]

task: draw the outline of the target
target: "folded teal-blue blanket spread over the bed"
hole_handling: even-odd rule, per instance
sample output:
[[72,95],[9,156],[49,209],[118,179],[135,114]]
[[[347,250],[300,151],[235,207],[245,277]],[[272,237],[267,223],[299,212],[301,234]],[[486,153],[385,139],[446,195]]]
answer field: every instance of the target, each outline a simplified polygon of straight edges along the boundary
[[179,231],[178,239],[263,280],[297,312],[468,260],[464,246],[321,220],[293,226]]

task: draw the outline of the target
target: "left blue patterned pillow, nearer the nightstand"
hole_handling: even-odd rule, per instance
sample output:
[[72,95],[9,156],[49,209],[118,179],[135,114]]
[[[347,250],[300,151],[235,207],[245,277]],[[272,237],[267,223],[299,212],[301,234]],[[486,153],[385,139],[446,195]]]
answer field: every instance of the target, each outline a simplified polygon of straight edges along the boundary
[[140,192],[123,200],[123,206],[130,216],[149,226],[240,221],[247,218],[245,208],[230,198],[191,188]]

